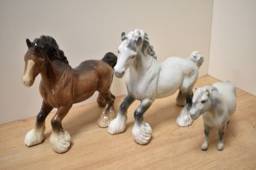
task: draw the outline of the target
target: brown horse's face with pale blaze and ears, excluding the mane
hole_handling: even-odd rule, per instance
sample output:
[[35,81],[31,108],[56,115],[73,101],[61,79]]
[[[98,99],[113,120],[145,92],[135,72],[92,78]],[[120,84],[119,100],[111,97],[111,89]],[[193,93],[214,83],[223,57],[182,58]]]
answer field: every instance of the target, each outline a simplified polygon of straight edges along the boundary
[[31,42],[26,40],[28,45],[28,51],[24,56],[25,69],[23,82],[27,87],[33,85],[35,78],[40,73],[42,67],[44,66],[46,56],[43,53],[41,45],[37,44],[37,41]]

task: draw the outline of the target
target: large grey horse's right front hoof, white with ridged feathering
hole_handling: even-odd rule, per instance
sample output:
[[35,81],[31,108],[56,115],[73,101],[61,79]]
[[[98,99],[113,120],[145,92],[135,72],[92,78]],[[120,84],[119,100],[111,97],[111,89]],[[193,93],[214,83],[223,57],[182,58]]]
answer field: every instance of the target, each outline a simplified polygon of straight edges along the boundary
[[152,129],[150,124],[143,121],[141,125],[133,125],[132,134],[135,142],[145,145],[150,142]]

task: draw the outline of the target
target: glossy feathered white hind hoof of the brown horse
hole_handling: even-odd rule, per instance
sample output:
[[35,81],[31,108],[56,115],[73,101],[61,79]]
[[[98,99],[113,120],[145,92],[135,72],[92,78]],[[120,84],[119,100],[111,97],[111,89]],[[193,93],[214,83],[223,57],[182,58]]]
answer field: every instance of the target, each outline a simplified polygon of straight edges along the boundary
[[106,104],[101,117],[98,118],[98,126],[102,128],[107,127],[115,116],[115,108],[110,104]]

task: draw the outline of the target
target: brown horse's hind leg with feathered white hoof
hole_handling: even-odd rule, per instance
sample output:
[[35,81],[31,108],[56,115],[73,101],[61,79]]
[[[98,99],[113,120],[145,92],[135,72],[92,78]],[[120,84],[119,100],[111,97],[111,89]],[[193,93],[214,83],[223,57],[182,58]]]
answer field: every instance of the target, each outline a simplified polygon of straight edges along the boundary
[[[98,99],[105,101],[105,108],[98,118],[98,126],[107,127],[116,116],[114,108],[115,96],[111,94],[111,91],[107,91],[106,93],[100,92]],[[98,104],[100,100],[98,100]]]

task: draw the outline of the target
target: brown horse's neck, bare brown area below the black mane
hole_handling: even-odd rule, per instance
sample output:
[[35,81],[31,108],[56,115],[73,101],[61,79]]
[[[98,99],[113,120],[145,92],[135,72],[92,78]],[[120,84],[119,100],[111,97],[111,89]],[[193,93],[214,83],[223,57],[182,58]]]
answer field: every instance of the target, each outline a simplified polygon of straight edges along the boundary
[[64,62],[48,60],[45,70],[41,71],[41,81],[48,86],[54,86],[69,70],[72,70],[71,66]]

